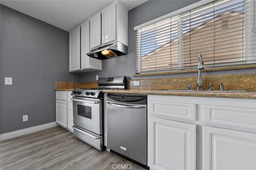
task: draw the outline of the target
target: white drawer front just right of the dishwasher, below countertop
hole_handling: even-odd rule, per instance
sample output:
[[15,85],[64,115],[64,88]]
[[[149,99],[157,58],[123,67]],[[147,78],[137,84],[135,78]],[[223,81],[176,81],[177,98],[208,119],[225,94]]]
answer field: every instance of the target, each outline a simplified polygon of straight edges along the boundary
[[196,120],[196,104],[149,101],[150,115]]

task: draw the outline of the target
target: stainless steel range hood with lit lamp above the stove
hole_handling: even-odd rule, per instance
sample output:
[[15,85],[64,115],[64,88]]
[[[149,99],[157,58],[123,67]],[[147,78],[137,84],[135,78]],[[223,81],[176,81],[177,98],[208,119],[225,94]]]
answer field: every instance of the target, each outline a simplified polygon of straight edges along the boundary
[[96,49],[92,49],[86,55],[99,60],[111,59],[128,53],[128,47],[118,41],[109,45],[104,45]]

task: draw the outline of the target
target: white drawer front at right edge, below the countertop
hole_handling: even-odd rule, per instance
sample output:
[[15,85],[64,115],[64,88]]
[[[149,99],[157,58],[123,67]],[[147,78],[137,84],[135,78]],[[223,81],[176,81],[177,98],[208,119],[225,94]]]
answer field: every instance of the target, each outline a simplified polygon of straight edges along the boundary
[[256,129],[256,108],[203,105],[204,122]]

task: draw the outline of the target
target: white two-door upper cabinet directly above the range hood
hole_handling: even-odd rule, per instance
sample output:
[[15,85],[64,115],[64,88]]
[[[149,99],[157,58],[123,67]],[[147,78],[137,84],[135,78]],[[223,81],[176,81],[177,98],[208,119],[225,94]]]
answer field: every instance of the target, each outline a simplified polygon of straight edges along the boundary
[[119,41],[128,46],[128,11],[114,2],[90,18],[90,49]]

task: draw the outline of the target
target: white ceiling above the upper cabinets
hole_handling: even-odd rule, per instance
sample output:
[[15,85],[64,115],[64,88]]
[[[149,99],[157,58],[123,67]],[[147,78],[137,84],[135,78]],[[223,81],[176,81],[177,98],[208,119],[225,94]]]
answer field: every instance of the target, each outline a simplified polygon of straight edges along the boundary
[[[115,0],[0,0],[4,6],[70,31]],[[119,0],[127,10],[147,0]]]

